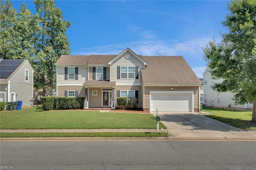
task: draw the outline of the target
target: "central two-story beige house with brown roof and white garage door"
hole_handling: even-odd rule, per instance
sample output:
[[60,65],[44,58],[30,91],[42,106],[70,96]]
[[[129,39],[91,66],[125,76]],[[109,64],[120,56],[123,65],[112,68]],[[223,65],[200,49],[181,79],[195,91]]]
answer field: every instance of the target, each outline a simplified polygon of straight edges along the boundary
[[144,111],[200,109],[201,82],[182,56],[62,55],[56,70],[56,95],[85,97],[85,108],[116,108],[127,96]]

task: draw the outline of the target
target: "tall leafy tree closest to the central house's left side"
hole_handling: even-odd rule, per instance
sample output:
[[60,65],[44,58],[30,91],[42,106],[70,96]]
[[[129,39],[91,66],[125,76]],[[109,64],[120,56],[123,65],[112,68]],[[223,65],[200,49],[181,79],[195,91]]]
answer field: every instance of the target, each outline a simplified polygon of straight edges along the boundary
[[56,86],[56,66],[61,55],[70,54],[69,41],[65,34],[69,21],[62,20],[60,8],[55,7],[53,0],[34,0],[40,31],[36,42],[36,86],[50,88],[52,93]]

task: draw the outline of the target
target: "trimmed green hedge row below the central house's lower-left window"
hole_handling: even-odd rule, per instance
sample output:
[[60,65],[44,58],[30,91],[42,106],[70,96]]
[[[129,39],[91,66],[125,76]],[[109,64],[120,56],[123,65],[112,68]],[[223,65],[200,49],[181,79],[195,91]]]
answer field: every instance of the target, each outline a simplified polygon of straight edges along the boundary
[[42,97],[41,102],[44,110],[84,108],[84,98]]

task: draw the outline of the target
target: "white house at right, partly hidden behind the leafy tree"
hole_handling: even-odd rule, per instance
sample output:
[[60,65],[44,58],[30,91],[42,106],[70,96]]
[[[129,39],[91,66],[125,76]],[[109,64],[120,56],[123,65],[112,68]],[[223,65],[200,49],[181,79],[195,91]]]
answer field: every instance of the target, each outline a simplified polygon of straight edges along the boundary
[[212,76],[206,68],[204,71],[204,106],[207,107],[217,107],[217,108],[225,108],[230,109],[229,105],[231,105],[231,109],[236,110],[246,110],[252,109],[252,103],[246,103],[244,105],[236,105],[232,98],[234,97],[234,93],[231,92],[220,92],[213,90],[211,86],[214,83],[220,83],[223,79],[213,80]]

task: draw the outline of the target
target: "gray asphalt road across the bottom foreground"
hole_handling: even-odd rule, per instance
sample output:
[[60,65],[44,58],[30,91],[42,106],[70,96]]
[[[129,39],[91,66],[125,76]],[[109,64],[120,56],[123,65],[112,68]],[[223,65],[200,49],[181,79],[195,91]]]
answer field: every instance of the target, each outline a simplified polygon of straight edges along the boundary
[[0,169],[255,170],[256,142],[1,142]]

